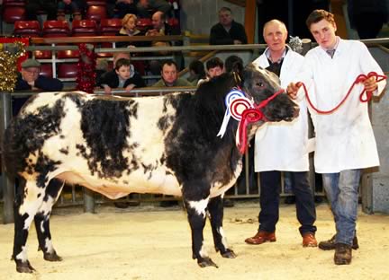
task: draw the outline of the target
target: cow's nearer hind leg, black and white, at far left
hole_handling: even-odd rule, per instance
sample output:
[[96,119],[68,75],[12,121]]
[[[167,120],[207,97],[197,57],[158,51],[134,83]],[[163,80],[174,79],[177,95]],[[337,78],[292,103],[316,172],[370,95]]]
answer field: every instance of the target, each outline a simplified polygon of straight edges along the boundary
[[13,259],[16,271],[32,273],[35,269],[27,258],[27,238],[32,219],[43,200],[43,189],[38,188],[34,181],[19,180],[14,199],[14,251]]

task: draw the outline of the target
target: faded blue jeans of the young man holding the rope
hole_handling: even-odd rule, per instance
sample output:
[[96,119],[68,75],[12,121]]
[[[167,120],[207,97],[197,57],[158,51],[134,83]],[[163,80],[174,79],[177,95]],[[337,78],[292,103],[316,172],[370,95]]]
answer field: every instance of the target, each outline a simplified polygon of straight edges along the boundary
[[358,187],[361,170],[322,174],[336,225],[336,243],[352,245],[357,223]]

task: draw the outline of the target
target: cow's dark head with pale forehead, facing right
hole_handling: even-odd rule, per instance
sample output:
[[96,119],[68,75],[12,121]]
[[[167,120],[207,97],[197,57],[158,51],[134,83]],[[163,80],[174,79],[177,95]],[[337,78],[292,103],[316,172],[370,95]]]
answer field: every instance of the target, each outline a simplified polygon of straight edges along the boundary
[[[276,92],[282,91],[279,79],[273,74],[259,66],[249,64],[241,72],[243,88],[249,97],[253,98],[258,106],[262,101],[267,100]],[[278,94],[266,106],[260,108],[267,121],[290,121],[298,116],[298,105],[292,101],[285,92]]]

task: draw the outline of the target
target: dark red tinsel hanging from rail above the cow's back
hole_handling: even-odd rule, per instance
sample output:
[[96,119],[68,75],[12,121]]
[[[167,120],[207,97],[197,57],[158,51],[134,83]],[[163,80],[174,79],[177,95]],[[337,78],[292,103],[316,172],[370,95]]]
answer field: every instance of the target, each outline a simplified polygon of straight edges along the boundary
[[86,44],[78,45],[80,58],[77,63],[77,90],[93,93],[95,89],[95,52],[86,47]]

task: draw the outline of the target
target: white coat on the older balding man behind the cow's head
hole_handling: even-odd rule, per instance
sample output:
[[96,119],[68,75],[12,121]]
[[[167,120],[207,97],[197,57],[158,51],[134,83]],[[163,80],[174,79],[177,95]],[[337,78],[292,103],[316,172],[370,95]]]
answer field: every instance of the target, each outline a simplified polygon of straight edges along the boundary
[[[303,66],[304,57],[289,49],[281,67],[281,86],[295,80]],[[253,61],[269,66],[265,52]],[[308,171],[308,118],[305,100],[299,101],[300,115],[292,122],[267,123],[258,128],[255,136],[255,171]]]

